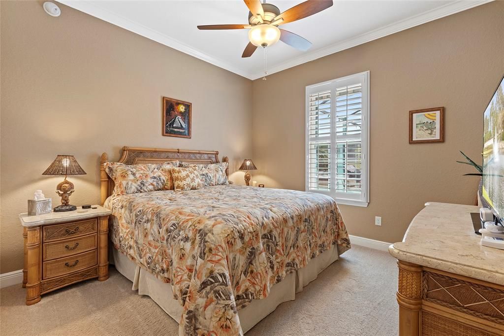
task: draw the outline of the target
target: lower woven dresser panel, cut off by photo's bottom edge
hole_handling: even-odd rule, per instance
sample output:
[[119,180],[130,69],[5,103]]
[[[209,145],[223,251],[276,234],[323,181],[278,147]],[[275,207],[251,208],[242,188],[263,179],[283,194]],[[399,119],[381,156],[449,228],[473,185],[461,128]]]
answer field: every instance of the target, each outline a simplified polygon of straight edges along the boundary
[[422,311],[422,336],[495,336],[449,318]]

